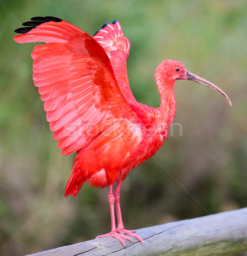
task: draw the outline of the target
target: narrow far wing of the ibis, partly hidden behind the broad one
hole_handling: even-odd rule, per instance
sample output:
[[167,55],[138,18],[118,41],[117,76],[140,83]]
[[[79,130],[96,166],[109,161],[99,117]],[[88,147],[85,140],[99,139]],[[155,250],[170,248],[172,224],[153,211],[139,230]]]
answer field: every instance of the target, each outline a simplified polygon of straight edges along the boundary
[[116,80],[125,95],[125,99],[129,104],[136,103],[129,86],[126,68],[131,44],[128,38],[123,35],[119,21],[114,20],[112,24],[105,23],[102,29],[96,32],[94,39],[101,44],[110,58]]

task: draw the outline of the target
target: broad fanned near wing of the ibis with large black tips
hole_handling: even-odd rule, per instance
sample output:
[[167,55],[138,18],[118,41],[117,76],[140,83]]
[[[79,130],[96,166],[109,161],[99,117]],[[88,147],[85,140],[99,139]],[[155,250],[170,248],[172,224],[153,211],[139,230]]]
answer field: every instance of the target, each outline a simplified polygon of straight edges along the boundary
[[62,154],[79,151],[124,118],[134,119],[114,75],[116,68],[94,38],[55,17],[31,20],[15,30],[22,34],[14,40],[47,43],[31,53],[33,79]]

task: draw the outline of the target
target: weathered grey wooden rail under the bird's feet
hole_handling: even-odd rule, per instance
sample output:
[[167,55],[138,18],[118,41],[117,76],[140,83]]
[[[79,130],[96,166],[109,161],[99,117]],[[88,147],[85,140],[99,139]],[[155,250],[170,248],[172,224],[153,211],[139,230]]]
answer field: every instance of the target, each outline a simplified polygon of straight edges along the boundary
[[114,238],[101,238],[31,256],[223,256],[244,253],[247,251],[247,208],[146,227],[136,233],[146,244],[135,239],[133,243],[125,241],[124,248]]

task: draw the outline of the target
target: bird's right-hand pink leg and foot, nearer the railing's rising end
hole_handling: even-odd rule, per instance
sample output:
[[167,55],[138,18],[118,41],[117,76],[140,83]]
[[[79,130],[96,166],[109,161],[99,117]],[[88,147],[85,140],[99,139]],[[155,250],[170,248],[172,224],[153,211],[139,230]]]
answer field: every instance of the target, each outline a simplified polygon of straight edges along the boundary
[[[121,209],[120,209],[120,189],[122,186],[122,181],[118,181],[116,184],[116,189],[114,191],[114,198],[115,198],[115,207],[116,207],[116,216],[117,216],[117,229],[116,231],[119,232],[119,234],[121,235],[129,235],[129,236],[133,236],[136,239],[140,240],[142,242],[142,244],[144,244],[145,242],[143,241],[142,238],[140,238],[138,235],[134,234],[134,232],[136,232],[136,230],[125,230],[124,229],[124,225],[122,222],[122,214],[121,214]],[[126,238],[126,236],[124,237]],[[131,239],[132,241],[132,239]]]

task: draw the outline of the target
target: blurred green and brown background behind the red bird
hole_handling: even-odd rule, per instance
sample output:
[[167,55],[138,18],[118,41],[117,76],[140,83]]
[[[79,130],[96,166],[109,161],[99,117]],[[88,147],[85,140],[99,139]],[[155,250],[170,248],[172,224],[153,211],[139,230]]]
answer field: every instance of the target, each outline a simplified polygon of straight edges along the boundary
[[[247,7],[243,0],[0,1],[0,254],[23,255],[94,239],[110,230],[108,189],[84,185],[64,198],[75,155],[57,149],[32,81],[35,44],[14,29],[55,16],[93,35],[120,21],[131,41],[136,99],[159,106],[153,75],[163,59],[212,81],[233,102],[191,81],[175,87],[172,136],[130,172],[121,193],[127,229],[247,206]],[[247,225],[247,223],[244,223]]]

